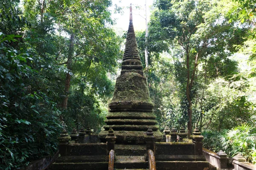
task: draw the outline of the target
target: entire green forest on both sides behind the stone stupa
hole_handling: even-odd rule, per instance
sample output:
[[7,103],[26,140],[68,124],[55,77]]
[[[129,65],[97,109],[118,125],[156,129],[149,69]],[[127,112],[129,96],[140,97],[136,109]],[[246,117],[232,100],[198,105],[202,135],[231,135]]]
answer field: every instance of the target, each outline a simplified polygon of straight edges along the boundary
[[[136,32],[160,131],[199,127],[204,147],[240,152],[253,163],[255,3],[154,0],[148,33]],[[101,130],[127,31],[113,29],[111,6],[111,0],[0,1],[0,169],[53,156],[63,127]]]

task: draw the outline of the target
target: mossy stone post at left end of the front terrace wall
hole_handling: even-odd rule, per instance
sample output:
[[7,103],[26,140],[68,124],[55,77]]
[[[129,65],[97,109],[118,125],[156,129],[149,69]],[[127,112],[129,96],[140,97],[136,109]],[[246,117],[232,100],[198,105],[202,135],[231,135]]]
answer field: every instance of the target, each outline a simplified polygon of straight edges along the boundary
[[61,154],[61,156],[67,156],[67,146],[69,144],[70,139],[71,139],[71,137],[67,133],[67,130],[63,129],[61,132],[61,136],[58,137],[59,154]]

